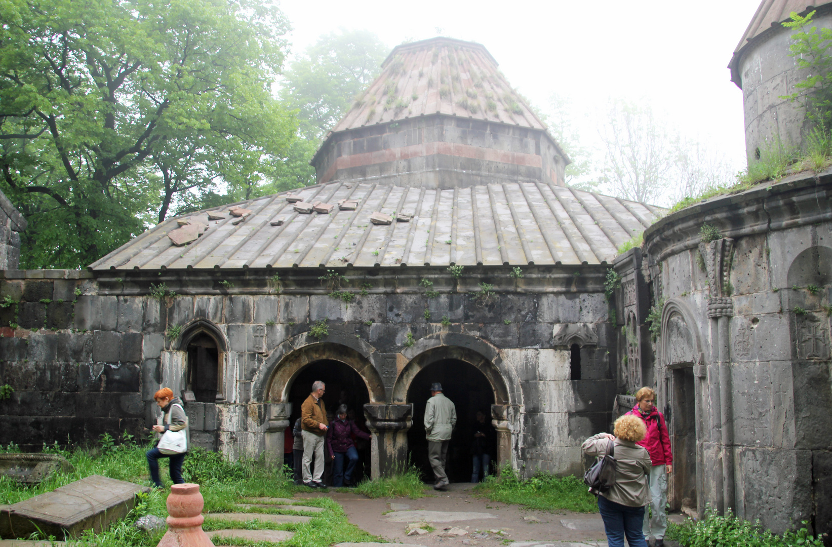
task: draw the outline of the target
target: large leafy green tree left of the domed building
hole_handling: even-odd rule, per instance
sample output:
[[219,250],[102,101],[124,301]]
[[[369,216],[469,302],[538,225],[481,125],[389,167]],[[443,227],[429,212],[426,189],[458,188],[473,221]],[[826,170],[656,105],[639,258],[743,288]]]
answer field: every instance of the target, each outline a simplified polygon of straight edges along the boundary
[[285,160],[288,24],[253,0],[0,2],[0,187],[24,267],[78,267],[183,192],[251,193]]

